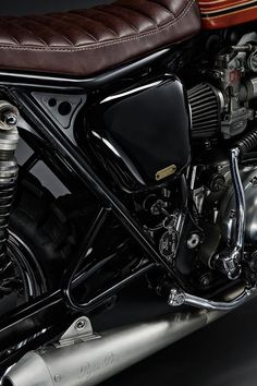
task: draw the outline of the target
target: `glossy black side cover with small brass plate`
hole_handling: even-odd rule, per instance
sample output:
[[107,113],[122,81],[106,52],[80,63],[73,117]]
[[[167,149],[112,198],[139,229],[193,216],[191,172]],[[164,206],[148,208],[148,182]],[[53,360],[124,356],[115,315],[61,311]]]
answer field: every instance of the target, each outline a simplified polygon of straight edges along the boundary
[[111,95],[88,111],[89,145],[126,189],[178,176],[191,158],[182,83],[167,75]]

